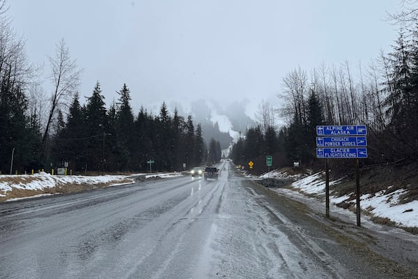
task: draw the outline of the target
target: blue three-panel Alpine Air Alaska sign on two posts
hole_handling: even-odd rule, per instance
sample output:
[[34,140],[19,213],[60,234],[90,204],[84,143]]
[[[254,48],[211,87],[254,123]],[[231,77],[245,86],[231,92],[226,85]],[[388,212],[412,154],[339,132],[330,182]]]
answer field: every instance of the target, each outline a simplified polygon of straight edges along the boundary
[[328,159],[354,158],[356,182],[356,215],[360,227],[359,158],[367,158],[365,125],[316,126],[316,157],[325,159],[325,215],[330,217],[330,175]]

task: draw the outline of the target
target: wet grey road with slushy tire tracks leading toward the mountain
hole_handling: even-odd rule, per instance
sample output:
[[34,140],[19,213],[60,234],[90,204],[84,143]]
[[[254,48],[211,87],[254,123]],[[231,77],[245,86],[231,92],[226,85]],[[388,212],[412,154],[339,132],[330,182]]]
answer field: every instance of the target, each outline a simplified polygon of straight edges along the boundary
[[380,258],[369,261],[355,243],[327,235],[300,204],[266,197],[225,167],[218,181],[187,176],[0,204],[0,278],[396,278],[403,272],[387,272]]

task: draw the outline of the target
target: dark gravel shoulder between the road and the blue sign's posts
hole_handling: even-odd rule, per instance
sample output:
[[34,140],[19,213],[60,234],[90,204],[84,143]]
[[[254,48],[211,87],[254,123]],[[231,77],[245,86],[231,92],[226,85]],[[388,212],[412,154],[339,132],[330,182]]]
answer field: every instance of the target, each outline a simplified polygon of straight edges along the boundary
[[[324,213],[313,210],[309,204],[265,188],[256,181],[244,180],[243,185],[263,195],[272,211],[300,226],[312,239],[320,239],[318,245],[334,257],[341,257],[349,269],[362,269],[371,278],[379,275],[383,278],[418,278],[417,262],[411,257],[418,250],[415,236],[408,240],[396,237],[396,234],[356,227],[337,217],[325,218]],[[338,243],[341,251],[332,251],[324,238]]]

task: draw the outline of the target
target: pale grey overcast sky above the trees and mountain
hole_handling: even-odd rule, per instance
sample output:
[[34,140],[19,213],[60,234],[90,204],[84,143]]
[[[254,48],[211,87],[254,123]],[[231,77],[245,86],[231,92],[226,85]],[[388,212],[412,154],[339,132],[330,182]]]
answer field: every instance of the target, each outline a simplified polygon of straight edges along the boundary
[[279,103],[283,77],[298,66],[309,71],[348,59],[355,67],[388,52],[397,31],[386,13],[399,3],[8,0],[8,15],[29,59],[45,63],[45,76],[47,56],[64,38],[84,68],[80,96],[91,96],[99,81],[109,105],[126,83],[135,112],[210,96],[223,103],[247,98],[252,114],[262,98]]

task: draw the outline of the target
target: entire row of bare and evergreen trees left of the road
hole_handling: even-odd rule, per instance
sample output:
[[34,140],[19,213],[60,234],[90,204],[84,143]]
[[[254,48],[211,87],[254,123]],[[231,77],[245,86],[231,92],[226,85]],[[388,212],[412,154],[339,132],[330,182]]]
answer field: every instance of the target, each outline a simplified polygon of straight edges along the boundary
[[[162,103],[153,115],[144,107],[134,115],[130,89],[123,84],[117,102],[106,107],[97,82],[82,104],[77,88],[82,70],[71,59],[64,40],[49,57],[53,90],[40,86],[42,67],[33,66],[6,17],[0,0],[0,171],[30,172],[56,167],[74,173],[180,171],[214,164],[220,144],[203,141],[200,123],[192,116],[170,114]],[[13,168],[12,168],[13,162]]]

